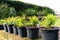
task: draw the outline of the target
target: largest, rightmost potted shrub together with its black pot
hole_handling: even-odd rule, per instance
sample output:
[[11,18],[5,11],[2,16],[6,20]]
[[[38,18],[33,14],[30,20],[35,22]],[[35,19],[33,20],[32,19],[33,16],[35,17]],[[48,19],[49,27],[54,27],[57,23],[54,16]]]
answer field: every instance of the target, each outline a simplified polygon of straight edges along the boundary
[[44,26],[44,28],[41,28],[42,40],[58,40],[59,29],[54,26],[52,27],[55,21],[55,15],[47,15],[45,19],[40,22],[40,26]]

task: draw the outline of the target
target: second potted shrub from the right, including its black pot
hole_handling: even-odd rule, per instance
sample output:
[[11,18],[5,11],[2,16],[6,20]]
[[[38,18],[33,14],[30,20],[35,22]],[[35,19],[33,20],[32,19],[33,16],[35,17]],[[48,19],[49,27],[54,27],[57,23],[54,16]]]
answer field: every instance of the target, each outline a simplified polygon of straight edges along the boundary
[[29,39],[38,39],[39,35],[39,28],[37,27],[38,23],[39,20],[36,16],[30,17],[29,22],[26,23],[27,37]]

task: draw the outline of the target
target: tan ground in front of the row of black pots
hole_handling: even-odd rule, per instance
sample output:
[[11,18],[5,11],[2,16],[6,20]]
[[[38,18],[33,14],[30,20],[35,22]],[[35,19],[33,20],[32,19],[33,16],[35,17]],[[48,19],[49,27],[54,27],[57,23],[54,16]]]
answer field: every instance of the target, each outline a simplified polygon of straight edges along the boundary
[[[9,34],[4,30],[0,30],[0,40],[29,40],[28,38],[21,38],[18,35]],[[41,39],[36,39],[41,40]]]

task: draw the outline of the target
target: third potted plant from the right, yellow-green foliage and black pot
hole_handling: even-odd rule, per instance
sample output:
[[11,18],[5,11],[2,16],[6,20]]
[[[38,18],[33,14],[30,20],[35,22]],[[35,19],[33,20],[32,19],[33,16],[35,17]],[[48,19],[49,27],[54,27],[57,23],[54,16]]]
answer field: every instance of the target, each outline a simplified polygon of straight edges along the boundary
[[24,26],[25,16],[17,19],[16,21],[17,21],[16,25],[18,28],[19,36],[20,37],[27,37],[26,27]]

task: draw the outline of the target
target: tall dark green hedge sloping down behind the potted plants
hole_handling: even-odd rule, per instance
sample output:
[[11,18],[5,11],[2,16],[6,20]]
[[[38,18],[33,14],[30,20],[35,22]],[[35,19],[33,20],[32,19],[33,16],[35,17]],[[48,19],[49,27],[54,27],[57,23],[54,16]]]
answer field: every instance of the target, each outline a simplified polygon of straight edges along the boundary
[[0,3],[0,19],[12,16],[47,16],[48,14],[54,14],[53,9],[49,7],[42,7],[32,4],[26,4],[18,1],[4,1]]

